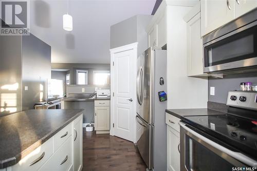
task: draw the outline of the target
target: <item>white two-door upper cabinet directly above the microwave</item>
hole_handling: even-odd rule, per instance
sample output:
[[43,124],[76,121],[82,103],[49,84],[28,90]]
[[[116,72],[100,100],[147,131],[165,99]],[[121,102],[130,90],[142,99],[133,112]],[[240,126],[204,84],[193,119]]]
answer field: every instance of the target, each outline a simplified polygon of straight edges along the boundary
[[257,7],[256,0],[201,0],[201,36]]

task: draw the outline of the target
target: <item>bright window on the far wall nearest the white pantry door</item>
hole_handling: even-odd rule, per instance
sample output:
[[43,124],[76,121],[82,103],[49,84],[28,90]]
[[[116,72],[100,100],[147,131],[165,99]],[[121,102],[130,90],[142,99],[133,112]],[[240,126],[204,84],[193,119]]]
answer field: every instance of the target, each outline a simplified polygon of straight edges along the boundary
[[109,85],[110,71],[93,71],[94,85]]

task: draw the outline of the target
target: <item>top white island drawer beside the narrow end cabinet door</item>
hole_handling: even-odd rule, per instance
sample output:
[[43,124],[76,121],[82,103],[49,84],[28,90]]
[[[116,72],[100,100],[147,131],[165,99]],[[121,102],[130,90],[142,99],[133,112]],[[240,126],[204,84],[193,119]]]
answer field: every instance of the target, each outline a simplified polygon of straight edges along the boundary
[[71,123],[53,136],[53,150],[56,152],[58,148],[71,136]]

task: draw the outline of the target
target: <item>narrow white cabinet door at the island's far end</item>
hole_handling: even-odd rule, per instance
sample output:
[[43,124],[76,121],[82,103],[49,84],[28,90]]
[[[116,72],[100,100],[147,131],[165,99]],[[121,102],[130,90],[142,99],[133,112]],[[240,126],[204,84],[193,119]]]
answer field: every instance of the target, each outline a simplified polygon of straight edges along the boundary
[[83,130],[82,130],[82,115],[74,120],[74,138],[73,138],[73,170],[80,171],[83,165],[82,153],[83,153]]

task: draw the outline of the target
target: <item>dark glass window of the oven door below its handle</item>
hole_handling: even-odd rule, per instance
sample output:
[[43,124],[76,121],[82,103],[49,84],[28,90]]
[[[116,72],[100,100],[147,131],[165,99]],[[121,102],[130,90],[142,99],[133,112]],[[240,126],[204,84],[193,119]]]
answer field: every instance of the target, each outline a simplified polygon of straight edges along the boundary
[[[185,137],[185,166],[189,171],[220,171],[231,170],[235,165],[224,159],[224,153],[207,148],[203,144],[186,135]],[[215,151],[215,153],[214,153]],[[217,155],[221,154],[221,155]],[[223,157],[221,157],[223,156]],[[226,156],[226,154],[225,154]],[[237,164],[236,164],[237,165]]]

